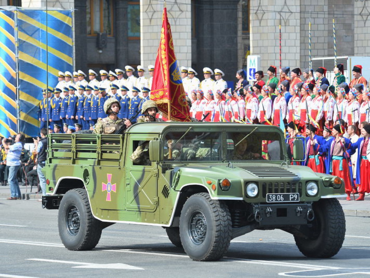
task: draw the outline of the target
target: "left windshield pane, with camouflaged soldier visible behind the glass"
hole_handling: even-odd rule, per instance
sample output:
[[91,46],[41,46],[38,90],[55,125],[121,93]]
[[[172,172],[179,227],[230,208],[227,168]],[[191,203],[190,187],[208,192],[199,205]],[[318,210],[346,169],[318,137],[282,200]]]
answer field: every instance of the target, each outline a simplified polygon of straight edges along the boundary
[[222,160],[221,132],[168,132],[164,136],[164,145],[164,160]]

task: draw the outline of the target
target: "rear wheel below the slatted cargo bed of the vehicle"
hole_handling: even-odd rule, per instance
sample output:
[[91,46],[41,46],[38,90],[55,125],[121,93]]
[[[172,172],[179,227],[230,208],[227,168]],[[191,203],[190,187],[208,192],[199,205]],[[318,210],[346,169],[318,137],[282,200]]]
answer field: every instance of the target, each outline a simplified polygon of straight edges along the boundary
[[98,244],[101,222],[92,216],[85,189],[76,188],[65,193],[59,206],[58,228],[60,239],[68,250],[91,250]]

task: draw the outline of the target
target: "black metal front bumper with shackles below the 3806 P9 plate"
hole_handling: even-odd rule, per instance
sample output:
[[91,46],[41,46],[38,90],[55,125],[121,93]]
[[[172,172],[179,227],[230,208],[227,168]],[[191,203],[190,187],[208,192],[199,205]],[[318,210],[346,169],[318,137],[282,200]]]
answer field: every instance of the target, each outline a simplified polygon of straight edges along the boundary
[[311,203],[255,204],[253,215],[260,226],[302,225],[314,219]]

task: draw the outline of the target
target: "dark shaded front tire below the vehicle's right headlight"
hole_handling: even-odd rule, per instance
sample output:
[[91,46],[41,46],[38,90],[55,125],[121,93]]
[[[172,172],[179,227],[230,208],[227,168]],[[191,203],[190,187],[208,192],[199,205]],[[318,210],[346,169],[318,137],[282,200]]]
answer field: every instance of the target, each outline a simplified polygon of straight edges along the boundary
[[337,199],[320,199],[313,203],[315,218],[309,238],[294,236],[303,255],[310,258],[330,258],[336,255],[346,234],[346,219]]

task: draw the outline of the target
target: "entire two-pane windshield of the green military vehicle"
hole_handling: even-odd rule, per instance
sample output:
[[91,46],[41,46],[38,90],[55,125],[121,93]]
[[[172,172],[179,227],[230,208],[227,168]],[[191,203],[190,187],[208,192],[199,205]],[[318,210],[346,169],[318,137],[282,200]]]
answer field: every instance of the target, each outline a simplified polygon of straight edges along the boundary
[[168,132],[163,139],[165,161],[284,159],[281,137],[277,132],[198,132],[190,129],[187,132]]

